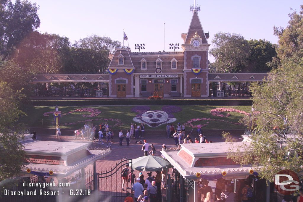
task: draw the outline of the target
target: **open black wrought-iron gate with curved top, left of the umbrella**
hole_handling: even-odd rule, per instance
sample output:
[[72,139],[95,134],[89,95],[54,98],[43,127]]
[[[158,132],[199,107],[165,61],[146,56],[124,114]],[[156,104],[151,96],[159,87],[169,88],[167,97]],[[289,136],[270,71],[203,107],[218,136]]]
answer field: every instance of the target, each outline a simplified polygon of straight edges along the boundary
[[[131,192],[132,184],[129,182],[129,189],[122,190],[121,172],[126,164],[130,164],[129,172],[132,173],[132,159],[122,159],[116,165],[98,173],[98,185],[100,190],[100,201],[120,202],[124,201],[127,192]],[[124,187],[127,187],[126,185]]]

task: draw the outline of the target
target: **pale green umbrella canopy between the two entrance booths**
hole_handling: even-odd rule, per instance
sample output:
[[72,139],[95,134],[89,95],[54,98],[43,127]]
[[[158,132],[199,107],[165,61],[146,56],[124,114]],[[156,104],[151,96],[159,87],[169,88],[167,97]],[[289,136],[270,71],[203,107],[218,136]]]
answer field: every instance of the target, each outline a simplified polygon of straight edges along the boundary
[[166,167],[171,168],[171,163],[158,156],[142,156],[132,160],[132,169],[137,171],[162,171]]

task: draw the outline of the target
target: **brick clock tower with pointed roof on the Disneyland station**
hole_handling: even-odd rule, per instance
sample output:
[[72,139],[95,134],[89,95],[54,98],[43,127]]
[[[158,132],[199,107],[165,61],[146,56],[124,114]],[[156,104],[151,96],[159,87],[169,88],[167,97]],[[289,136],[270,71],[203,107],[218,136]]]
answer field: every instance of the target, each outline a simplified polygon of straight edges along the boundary
[[205,33],[198,11],[200,6],[191,6],[193,15],[186,34],[181,37],[184,43],[184,97],[208,97],[208,47],[209,33]]

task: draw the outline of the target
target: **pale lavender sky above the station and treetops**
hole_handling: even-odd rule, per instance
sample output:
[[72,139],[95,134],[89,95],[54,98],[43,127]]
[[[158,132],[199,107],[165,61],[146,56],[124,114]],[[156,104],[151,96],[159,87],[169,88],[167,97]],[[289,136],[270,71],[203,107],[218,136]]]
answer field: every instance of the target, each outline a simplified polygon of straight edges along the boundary
[[[194,0],[29,0],[37,3],[41,24],[38,31],[66,36],[74,43],[90,35],[107,36],[136,52],[135,44],[144,43],[145,51],[169,51],[170,43],[183,40],[191,22],[190,5]],[[241,34],[245,39],[265,39],[278,43],[273,27],[288,25],[288,14],[300,12],[299,0],[202,1],[198,16],[211,43],[218,32]],[[212,48],[212,45],[210,46]],[[209,57],[211,62],[214,58]]]

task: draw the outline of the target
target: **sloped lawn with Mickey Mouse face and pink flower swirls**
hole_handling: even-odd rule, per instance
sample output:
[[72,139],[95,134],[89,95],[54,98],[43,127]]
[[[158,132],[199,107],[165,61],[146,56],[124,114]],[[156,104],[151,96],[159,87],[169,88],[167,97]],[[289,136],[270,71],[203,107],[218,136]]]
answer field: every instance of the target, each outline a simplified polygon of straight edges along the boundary
[[[251,106],[99,106],[99,107],[59,107],[59,124],[63,128],[78,129],[85,122],[100,124],[108,122],[113,129],[129,128],[130,124],[145,122],[145,128],[165,130],[166,124],[185,123],[186,129],[245,129],[239,121],[248,116]],[[52,128],[54,107],[35,106],[29,109],[23,122],[30,127]]]

